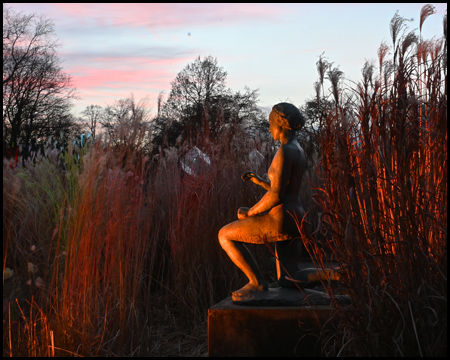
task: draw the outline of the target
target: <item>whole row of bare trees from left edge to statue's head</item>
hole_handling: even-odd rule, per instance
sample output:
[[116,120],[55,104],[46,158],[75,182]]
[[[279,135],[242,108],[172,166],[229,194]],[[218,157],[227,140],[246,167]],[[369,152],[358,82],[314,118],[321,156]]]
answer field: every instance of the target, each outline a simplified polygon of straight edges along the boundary
[[233,92],[212,56],[198,57],[177,74],[165,101],[160,93],[156,116],[149,114],[148,98],[135,101],[131,94],[105,107],[89,105],[76,117],[70,110],[77,92],[63,71],[59,46],[51,20],[3,5],[4,157],[27,158],[50,138],[67,149],[80,135],[95,140],[99,132],[121,144],[129,141],[121,136],[124,128],[134,125],[146,129],[140,146],[152,154],[187,141],[195,145],[199,137],[214,141],[238,127],[268,135],[257,90]]

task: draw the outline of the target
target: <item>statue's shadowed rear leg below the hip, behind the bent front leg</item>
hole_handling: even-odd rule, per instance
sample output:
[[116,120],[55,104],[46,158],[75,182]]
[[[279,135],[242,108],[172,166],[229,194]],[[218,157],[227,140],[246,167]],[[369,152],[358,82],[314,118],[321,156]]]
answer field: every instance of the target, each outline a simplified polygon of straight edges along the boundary
[[285,276],[293,277],[297,271],[298,239],[277,241],[275,255],[277,263],[277,280],[281,287],[295,287],[295,283],[286,280]]

